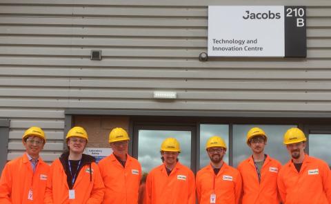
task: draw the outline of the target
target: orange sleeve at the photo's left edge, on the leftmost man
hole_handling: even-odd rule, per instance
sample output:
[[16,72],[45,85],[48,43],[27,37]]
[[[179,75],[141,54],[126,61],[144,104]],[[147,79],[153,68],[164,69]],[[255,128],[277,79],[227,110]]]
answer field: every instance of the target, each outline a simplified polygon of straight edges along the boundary
[[0,203],[10,204],[10,194],[12,192],[12,175],[10,165],[7,163],[3,168],[0,179]]

